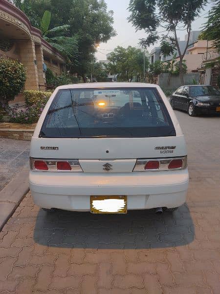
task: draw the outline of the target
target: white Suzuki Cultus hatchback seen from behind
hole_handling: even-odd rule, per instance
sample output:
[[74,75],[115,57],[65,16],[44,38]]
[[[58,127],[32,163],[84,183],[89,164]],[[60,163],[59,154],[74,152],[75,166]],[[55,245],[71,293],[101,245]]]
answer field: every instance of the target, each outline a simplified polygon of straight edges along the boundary
[[188,189],[185,140],[159,86],[58,87],[31,140],[34,202],[91,213],[174,211]]

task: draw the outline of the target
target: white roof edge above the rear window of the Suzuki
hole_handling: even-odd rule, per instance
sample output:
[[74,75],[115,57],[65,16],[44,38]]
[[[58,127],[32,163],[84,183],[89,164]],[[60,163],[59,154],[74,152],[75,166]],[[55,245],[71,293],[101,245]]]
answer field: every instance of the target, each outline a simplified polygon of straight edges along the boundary
[[109,82],[109,83],[81,83],[57,87],[60,89],[85,89],[85,88],[158,88],[156,84],[132,83],[132,82]]

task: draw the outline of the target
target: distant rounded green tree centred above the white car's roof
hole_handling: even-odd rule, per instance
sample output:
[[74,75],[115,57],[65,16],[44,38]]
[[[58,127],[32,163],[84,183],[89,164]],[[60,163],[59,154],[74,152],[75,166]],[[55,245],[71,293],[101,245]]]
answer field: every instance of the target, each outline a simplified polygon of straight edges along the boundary
[[[149,66],[148,53],[145,53],[145,70]],[[108,69],[112,74],[118,74],[118,80],[129,81],[133,76],[143,77],[144,52],[142,49],[129,46],[116,47],[110,54]]]

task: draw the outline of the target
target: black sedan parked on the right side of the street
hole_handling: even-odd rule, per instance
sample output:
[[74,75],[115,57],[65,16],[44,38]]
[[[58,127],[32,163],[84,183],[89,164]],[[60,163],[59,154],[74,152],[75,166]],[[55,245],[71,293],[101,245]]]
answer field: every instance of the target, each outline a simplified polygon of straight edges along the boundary
[[185,110],[190,116],[220,114],[220,92],[212,86],[181,86],[172,94],[170,103],[173,109]]

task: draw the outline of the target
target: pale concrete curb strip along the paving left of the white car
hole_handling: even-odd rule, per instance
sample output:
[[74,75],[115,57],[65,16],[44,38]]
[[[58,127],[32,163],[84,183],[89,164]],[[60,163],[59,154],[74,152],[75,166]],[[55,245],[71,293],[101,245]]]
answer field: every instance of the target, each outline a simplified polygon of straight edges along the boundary
[[0,192],[0,231],[29,191],[28,172],[19,172]]

